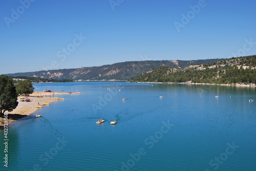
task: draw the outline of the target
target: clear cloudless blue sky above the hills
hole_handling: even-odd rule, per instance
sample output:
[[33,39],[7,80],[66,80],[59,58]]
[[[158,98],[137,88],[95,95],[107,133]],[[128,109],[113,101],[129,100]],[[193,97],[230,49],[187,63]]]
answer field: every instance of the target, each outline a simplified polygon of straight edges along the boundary
[[255,0],[30,1],[0,2],[0,74],[256,54]]

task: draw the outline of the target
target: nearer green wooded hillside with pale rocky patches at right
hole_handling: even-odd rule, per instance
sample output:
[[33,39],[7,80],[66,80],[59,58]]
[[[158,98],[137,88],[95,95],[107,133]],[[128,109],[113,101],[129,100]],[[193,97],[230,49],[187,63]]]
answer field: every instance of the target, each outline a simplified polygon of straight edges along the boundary
[[256,56],[225,59],[203,65],[189,65],[183,69],[159,67],[147,71],[130,82],[255,84]]

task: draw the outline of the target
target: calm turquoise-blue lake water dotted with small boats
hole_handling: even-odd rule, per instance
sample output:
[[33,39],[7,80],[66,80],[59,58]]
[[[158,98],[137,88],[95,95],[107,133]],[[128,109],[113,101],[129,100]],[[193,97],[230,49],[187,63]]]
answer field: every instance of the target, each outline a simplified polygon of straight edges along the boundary
[[[34,87],[80,94],[59,95],[65,100],[14,123],[8,169],[1,150],[0,170],[256,170],[256,104],[248,101],[255,101],[255,88],[123,82]],[[105,123],[95,124],[99,118]]]

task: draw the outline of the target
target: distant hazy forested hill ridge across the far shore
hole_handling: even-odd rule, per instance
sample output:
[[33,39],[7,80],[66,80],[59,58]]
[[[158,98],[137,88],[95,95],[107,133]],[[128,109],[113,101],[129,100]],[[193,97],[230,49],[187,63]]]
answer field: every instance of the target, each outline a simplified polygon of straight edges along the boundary
[[26,76],[47,79],[72,79],[72,80],[128,80],[143,72],[150,71],[156,67],[167,66],[184,68],[191,64],[206,64],[223,59],[205,59],[190,61],[131,61],[120,62],[112,65],[82,67],[76,69],[41,70],[35,72],[20,72],[7,74],[7,76]]

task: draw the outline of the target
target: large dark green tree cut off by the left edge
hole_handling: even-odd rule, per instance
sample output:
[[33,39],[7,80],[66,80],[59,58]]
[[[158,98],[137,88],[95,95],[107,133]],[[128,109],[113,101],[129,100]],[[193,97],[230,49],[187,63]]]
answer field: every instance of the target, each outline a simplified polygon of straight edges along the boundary
[[12,79],[5,75],[0,76],[0,116],[6,111],[11,112],[18,106],[17,92]]

